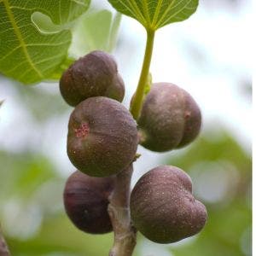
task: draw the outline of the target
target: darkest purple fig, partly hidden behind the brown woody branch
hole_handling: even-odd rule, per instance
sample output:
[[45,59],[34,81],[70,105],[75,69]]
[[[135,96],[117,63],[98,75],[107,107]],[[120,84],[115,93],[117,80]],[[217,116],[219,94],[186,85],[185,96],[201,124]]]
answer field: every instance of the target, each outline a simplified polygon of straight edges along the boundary
[[79,171],[68,177],[63,193],[64,207],[79,230],[90,234],[113,230],[108,216],[108,196],[113,186],[114,177],[90,177]]

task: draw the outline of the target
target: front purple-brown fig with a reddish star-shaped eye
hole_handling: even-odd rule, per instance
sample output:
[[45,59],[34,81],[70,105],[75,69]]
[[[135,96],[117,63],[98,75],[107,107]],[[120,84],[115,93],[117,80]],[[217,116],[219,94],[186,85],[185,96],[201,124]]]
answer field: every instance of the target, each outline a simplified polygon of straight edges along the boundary
[[137,125],[119,102],[102,96],[81,102],[70,116],[67,155],[81,172],[108,177],[125,169],[137,152]]

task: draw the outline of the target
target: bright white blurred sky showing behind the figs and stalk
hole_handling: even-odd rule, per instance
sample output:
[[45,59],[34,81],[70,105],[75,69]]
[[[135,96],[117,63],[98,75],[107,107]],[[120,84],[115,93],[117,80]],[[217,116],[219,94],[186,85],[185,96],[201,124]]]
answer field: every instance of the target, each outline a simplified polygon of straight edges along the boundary
[[[209,125],[215,125],[213,128],[218,131],[224,125],[250,151],[253,132],[250,96],[238,81],[251,83],[253,9],[252,1],[242,2],[201,0],[189,20],[157,31],[151,73],[154,82],[172,82],[189,91],[201,106],[203,131]],[[107,1],[96,3],[101,8],[111,9]],[[143,62],[146,34],[136,20],[123,16],[119,38],[119,46],[113,54],[125,80],[125,105],[128,107]],[[57,169],[71,172],[73,166],[66,154],[70,112],[38,126],[9,83],[7,79],[0,83],[0,99],[6,99],[0,110],[0,148],[20,151],[27,145],[38,148],[40,142],[41,150],[55,161]],[[38,90],[59,94],[58,84],[41,84]],[[19,130],[13,132],[17,122]],[[139,150],[143,158],[137,161],[137,168],[143,168],[144,172],[166,156],[143,148]]]

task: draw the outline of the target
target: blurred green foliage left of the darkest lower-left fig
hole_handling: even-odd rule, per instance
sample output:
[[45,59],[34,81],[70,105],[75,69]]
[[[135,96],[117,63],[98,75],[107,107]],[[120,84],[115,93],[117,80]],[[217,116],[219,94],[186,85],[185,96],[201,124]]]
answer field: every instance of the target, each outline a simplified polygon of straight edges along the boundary
[[[29,152],[10,154],[2,151],[0,162],[0,207],[3,209],[0,216],[13,255],[108,253],[112,235],[83,234],[67,219],[62,207],[65,179],[56,174],[49,160]],[[31,208],[38,211],[29,212]],[[38,229],[26,226],[35,221]],[[97,245],[99,241],[101,247]]]

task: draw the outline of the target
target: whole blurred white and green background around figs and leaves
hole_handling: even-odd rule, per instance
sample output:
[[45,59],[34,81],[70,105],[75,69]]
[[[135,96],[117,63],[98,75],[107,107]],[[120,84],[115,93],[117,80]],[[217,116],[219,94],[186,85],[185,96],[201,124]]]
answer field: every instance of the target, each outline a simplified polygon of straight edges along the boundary
[[[113,11],[107,1],[93,1],[93,8]],[[135,256],[252,255],[251,23],[251,0],[201,0],[189,20],[156,33],[153,81],[188,90],[201,106],[204,123],[201,136],[186,148],[156,154],[139,147],[142,157],[132,184],[154,166],[178,166],[192,177],[208,220],[199,235],[170,245],[139,234]],[[145,38],[136,20],[122,17],[113,55],[125,80],[127,107],[137,86]],[[82,43],[73,43],[73,56],[81,54]],[[66,154],[73,109],[61,99],[58,84],[25,87],[0,75],[2,99],[0,220],[11,253],[108,255],[112,233],[84,234],[64,212],[62,191],[75,171]]]

